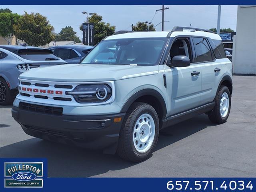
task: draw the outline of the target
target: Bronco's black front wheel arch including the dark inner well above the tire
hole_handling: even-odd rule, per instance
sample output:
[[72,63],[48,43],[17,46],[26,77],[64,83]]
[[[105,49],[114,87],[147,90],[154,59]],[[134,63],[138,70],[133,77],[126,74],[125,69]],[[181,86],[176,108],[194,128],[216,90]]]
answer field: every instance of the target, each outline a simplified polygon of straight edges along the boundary
[[162,119],[166,117],[167,109],[164,98],[158,91],[154,89],[143,89],[136,92],[125,102],[120,112],[128,111],[134,102],[145,102],[152,105],[158,113],[160,124],[162,124]]

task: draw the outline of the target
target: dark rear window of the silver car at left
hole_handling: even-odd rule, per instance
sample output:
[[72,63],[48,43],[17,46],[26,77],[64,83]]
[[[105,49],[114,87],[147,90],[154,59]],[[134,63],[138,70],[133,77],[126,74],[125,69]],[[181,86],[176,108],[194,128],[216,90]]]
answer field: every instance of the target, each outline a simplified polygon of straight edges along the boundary
[[48,49],[21,49],[18,56],[32,61],[58,60],[51,50]]

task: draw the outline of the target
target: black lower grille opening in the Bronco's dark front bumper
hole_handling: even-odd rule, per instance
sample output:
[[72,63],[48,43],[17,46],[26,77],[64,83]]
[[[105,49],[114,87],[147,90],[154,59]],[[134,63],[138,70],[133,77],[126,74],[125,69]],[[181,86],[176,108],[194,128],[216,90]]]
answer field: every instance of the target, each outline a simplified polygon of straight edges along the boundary
[[53,114],[53,115],[62,115],[62,112],[63,112],[62,107],[51,107],[51,106],[36,105],[36,104],[30,104],[30,103],[24,103],[24,102],[20,102],[19,108],[22,110]]

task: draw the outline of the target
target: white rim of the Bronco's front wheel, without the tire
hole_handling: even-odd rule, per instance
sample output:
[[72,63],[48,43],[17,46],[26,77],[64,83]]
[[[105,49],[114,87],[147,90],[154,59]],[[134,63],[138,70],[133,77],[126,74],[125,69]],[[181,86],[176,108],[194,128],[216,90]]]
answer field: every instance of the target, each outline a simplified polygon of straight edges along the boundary
[[140,153],[147,152],[154,141],[155,122],[148,113],[142,114],[136,121],[133,128],[133,144]]

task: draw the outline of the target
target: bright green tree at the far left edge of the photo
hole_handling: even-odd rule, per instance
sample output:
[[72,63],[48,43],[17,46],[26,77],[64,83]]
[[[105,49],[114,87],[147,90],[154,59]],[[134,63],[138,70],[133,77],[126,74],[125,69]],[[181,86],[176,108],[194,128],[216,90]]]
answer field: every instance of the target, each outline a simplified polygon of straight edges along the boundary
[[0,13],[0,36],[2,36],[10,45],[10,40],[15,34],[14,25],[18,23],[20,15],[16,13]]

